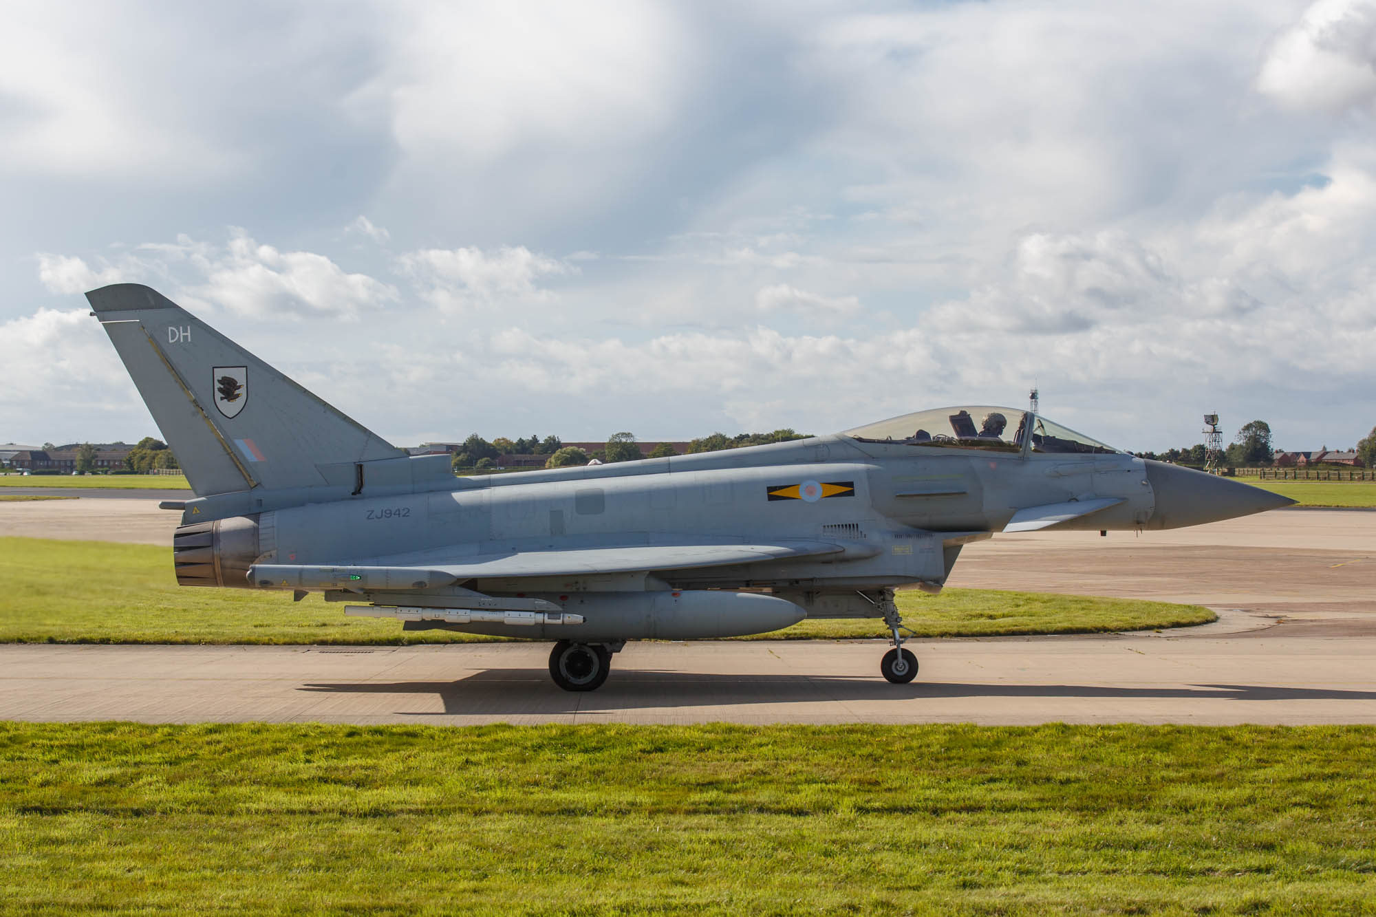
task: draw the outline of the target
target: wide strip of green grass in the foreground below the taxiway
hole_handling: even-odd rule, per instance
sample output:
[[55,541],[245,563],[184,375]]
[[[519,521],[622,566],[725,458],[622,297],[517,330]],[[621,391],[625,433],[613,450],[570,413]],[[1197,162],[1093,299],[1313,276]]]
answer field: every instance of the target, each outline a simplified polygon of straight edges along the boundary
[[0,724],[0,910],[1370,913],[1370,727]]

